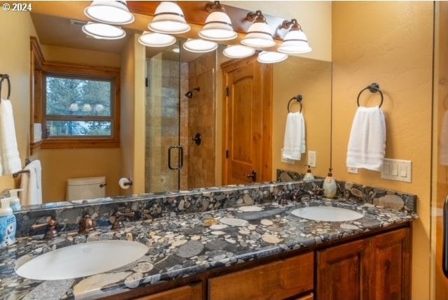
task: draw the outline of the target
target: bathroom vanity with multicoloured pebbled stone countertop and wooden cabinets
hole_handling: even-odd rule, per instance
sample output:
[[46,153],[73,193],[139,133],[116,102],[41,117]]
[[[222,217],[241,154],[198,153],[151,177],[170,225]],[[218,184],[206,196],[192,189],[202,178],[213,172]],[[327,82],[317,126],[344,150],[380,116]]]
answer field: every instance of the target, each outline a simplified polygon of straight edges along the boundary
[[[183,214],[173,210],[171,215],[125,222],[118,231],[109,225],[87,234],[62,231],[50,241],[43,241],[42,236],[19,238],[0,254],[0,297],[409,299],[409,236],[411,222],[417,217],[416,198],[341,183],[339,190],[348,196],[345,199],[302,197],[290,201],[321,183],[264,183],[171,193],[162,198],[165,202],[141,195],[122,203],[73,206],[78,210],[100,206],[97,223],[102,213],[108,214],[107,205],[140,209],[139,201],[146,201],[148,206],[175,203],[178,209],[188,209]],[[362,191],[364,201],[347,194],[355,190]],[[216,201],[214,205],[205,206],[211,199]],[[398,199],[402,199],[402,208],[396,208]],[[391,203],[395,209],[387,208]],[[363,217],[326,222],[292,213],[308,206],[345,208]],[[64,222],[58,213],[55,219]],[[14,271],[25,260],[57,248],[126,239],[148,245],[149,250],[135,262],[112,271],[64,280],[28,280]]]

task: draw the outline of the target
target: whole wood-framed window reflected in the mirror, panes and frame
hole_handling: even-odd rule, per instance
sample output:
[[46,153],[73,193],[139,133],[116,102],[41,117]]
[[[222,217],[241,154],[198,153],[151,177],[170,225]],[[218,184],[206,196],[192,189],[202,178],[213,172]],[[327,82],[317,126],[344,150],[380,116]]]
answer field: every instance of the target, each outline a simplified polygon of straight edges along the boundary
[[118,147],[119,69],[43,63],[42,148]]

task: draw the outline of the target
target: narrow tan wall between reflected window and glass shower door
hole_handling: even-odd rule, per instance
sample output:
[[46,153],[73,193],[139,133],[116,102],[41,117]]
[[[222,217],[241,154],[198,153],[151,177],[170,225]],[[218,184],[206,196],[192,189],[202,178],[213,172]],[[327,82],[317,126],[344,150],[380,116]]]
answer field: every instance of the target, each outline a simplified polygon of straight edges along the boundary
[[145,191],[145,48],[131,36],[121,54],[121,162],[120,177],[133,185],[121,194]]

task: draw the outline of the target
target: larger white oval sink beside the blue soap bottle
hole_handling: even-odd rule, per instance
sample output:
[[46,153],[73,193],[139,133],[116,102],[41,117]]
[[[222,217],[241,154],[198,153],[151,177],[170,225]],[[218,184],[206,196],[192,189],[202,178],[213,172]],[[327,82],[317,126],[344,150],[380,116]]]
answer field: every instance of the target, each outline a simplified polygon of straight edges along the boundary
[[60,280],[117,269],[139,259],[148,247],[131,241],[98,241],[71,245],[25,262],[15,273],[34,280]]

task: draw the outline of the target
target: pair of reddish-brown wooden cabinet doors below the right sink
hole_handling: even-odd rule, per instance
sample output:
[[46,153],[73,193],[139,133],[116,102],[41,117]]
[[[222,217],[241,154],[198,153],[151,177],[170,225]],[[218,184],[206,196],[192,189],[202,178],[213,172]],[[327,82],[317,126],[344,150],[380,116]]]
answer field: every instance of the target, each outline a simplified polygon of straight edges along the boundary
[[409,229],[319,250],[316,299],[409,299]]

